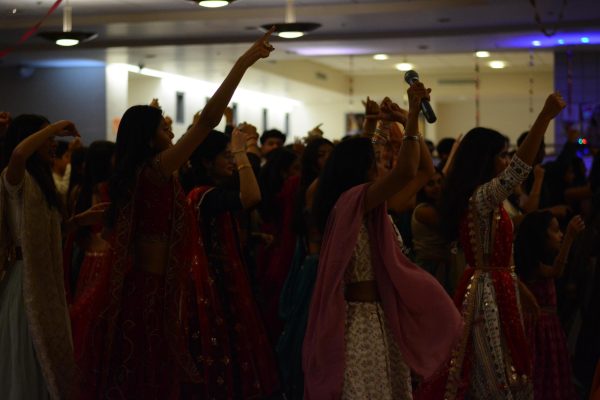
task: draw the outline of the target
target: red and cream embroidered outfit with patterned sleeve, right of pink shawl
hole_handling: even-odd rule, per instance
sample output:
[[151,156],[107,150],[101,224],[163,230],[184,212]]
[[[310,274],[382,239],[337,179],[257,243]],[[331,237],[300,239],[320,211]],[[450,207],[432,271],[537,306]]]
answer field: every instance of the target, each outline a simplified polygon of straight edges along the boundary
[[517,278],[511,268],[513,226],[502,202],[531,167],[517,156],[478,187],[460,223],[468,268],[456,292],[465,329],[450,361],[444,398],[532,399],[531,357]]

